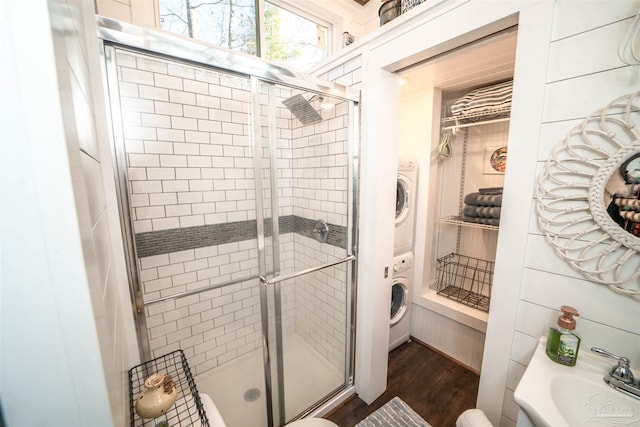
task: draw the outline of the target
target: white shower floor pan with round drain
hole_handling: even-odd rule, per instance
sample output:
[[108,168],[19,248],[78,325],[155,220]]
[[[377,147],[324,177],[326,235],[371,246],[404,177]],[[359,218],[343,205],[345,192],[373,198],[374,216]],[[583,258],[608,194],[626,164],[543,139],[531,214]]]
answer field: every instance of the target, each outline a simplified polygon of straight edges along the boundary
[[[284,338],[284,348],[289,420],[342,385],[344,377],[297,334]],[[262,349],[197,375],[196,384],[200,393],[211,396],[227,427],[267,425]]]

